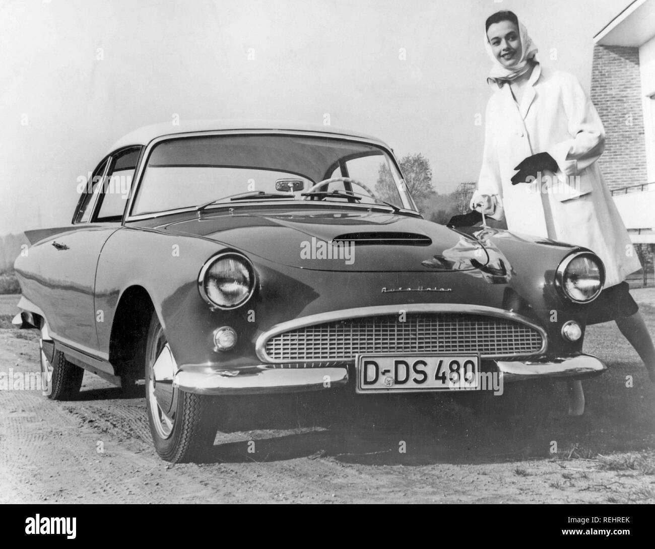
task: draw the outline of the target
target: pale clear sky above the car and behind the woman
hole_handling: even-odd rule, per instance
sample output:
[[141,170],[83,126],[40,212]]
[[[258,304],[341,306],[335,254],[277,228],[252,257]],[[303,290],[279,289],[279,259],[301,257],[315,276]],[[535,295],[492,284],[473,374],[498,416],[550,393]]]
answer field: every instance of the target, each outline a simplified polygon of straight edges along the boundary
[[479,171],[487,16],[514,11],[538,59],[589,90],[593,36],[630,3],[0,0],[0,235],[70,223],[77,178],[175,115],[329,115],[422,153],[449,193]]

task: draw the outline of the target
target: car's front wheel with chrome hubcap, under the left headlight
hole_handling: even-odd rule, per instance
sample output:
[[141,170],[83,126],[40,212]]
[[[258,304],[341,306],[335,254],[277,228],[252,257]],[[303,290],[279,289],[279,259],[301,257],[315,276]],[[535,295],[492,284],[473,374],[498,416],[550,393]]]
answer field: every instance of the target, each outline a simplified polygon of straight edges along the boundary
[[153,313],[145,350],[148,423],[155,450],[165,461],[197,461],[212,447],[217,428],[215,398],[173,387],[177,369],[166,335]]

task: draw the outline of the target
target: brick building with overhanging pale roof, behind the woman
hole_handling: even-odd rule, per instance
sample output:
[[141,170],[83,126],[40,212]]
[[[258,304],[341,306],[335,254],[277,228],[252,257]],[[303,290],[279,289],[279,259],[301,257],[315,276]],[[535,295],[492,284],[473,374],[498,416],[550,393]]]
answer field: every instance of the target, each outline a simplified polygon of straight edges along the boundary
[[655,0],[635,0],[594,37],[599,166],[635,243],[655,243]]

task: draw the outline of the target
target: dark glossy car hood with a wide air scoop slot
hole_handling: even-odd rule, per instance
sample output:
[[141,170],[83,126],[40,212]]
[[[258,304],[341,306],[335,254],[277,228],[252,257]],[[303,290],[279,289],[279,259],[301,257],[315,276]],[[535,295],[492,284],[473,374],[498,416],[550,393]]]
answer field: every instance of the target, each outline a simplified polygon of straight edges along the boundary
[[475,271],[476,238],[421,218],[372,211],[203,214],[160,227],[316,271]]

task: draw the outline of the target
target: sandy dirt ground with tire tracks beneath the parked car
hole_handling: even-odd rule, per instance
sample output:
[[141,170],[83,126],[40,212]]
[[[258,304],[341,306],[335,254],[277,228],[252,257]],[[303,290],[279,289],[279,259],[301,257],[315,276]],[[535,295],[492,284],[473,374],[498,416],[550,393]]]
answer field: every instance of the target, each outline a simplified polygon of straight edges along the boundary
[[[634,295],[655,333],[655,292]],[[16,301],[0,296],[0,372],[37,372],[37,334],[10,328]],[[0,503],[654,503],[655,386],[614,324],[591,327],[585,350],[610,369],[584,382],[583,417],[559,385],[545,407],[510,385],[242,398],[197,464],[161,461],[144,398],[88,372],[71,402],[0,390]]]

